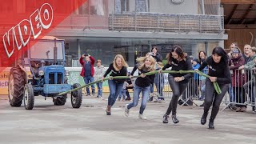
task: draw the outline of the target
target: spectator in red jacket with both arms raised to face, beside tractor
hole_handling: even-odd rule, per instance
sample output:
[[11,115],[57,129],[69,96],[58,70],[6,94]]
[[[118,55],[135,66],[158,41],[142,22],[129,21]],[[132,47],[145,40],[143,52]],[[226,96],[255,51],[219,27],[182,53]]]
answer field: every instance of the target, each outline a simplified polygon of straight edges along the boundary
[[[83,58],[86,58],[86,61],[83,61]],[[79,62],[82,65],[82,71],[80,75],[83,77],[85,83],[88,84],[90,82],[94,82],[94,62],[95,62],[94,57],[90,56],[89,54],[82,54]],[[94,96],[95,94],[94,85],[91,86],[91,90],[93,94],[92,96]],[[86,87],[86,92],[87,92],[86,96],[90,96],[89,87]]]

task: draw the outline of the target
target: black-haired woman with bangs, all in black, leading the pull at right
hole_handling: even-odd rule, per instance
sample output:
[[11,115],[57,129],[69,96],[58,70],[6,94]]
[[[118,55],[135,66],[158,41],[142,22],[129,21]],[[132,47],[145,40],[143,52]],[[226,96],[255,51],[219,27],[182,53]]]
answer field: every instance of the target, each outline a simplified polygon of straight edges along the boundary
[[[203,70],[206,66],[209,67],[208,75],[210,78],[206,79],[206,97],[201,124],[206,124],[208,111],[210,106],[213,105],[209,122],[209,129],[213,130],[214,119],[218,114],[222,98],[226,94],[226,91],[229,90],[229,84],[231,83],[230,69],[228,66],[228,57],[226,51],[223,50],[222,47],[215,47],[212,55],[207,58],[205,62],[202,62],[202,65],[198,68],[198,70]],[[218,85],[222,90],[221,94],[216,93],[214,90],[213,82],[218,82]]]

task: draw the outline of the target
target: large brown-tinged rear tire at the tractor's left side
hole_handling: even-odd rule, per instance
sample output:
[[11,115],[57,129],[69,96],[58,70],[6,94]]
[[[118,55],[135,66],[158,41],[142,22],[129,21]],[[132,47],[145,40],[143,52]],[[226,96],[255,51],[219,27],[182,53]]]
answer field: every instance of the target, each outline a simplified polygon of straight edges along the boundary
[[26,84],[23,71],[18,68],[10,69],[9,84],[8,84],[8,98],[10,106],[21,106],[24,86]]

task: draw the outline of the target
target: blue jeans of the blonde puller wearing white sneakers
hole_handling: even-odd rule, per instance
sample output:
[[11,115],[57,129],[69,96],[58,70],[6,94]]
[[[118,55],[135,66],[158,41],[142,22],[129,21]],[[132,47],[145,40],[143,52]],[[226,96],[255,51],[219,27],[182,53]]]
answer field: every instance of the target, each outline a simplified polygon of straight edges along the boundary
[[146,108],[146,102],[149,99],[150,96],[150,86],[147,87],[140,87],[134,85],[134,98],[133,102],[131,102],[127,107],[128,109],[135,107],[138,105],[138,99],[139,99],[139,94],[142,92],[142,105],[139,109],[139,114],[143,114],[143,111]]

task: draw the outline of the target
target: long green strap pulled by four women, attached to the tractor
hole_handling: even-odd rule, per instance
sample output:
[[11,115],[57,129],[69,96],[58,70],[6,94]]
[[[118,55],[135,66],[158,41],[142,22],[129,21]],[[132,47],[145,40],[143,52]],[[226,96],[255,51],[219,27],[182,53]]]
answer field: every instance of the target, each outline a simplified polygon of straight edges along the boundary
[[[145,75],[152,75],[152,74],[158,74],[158,70],[154,70],[154,71],[151,71],[151,72],[148,72],[146,73]],[[197,73],[201,76],[204,76],[206,78],[209,78],[210,76],[207,75],[207,74],[204,74],[202,73],[201,71],[199,70],[162,70],[161,73],[169,73],[169,74],[188,74],[188,73]],[[137,76],[132,76],[131,78],[138,78],[140,77],[139,75]],[[109,77],[109,78],[104,78],[103,81],[107,81],[109,80],[110,78],[113,78],[113,79],[126,79],[126,78],[130,78],[129,76],[116,76],[116,77]],[[59,93],[58,95],[62,95],[62,94],[68,94],[68,93],[71,93],[72,91],[75,91],[75,90],[79,90],[79,89],[82,89],[84,87],[88,87],[88,86],[91,86],[91,85],[94,85],[95,83],[98,83],[98,82],[102,82],[102,80],[98,80],[98,81],[94,81],[94,82],[90,82],[84,86],[80,86],[80,87],[77,87],[73,90],[68,90],[66,92],[62,92],[62,93]],[[220,87],[218,86],[218,83],[217,82],[214,82],[214,89],[216,90],[217,94],[221,94],[222,93],[222,90],[220,89]]]

